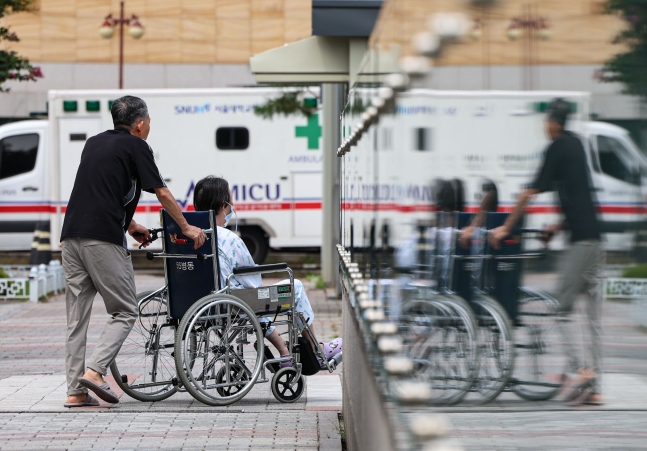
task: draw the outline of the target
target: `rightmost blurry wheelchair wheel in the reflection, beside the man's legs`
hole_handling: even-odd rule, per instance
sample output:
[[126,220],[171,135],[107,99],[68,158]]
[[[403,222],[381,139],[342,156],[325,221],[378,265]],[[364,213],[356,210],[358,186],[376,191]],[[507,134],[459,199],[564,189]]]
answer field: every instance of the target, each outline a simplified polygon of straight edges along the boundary
[[512,390],[528,401],[544,401],[559,393],[568,367],[558,330],[558,305],[539,290],[520,289]]

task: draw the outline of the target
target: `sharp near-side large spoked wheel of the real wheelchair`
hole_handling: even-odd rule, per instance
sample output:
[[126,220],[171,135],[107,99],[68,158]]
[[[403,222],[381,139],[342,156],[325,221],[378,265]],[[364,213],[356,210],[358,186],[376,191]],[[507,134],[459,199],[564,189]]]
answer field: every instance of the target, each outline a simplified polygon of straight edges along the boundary
[[263,364],[263,331],[254,312],[237,297],[210,294],[200,299],[184,314],[177,337],[178,377],[198,401],[226,406],[256,383]]

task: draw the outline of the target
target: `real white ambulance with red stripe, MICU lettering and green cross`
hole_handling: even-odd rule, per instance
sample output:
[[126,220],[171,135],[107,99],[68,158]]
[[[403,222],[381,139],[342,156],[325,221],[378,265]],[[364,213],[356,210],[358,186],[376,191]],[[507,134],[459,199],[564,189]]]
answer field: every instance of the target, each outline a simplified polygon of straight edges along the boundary
[[[321,119],[263,119],[254,106],[279,89],[50,91],[49,119],[0,127],[0,250],[28,250],[37,222],[49,222],[58,250],[65,209],[85,141],[111,129],[112,101],[143,98],[148,143],[171,192],[191,210],[202,177],[226,178],[238,230],[255,260],[269,247],[321,244]],[[310,102],[316,101],[313,90]],[[142,193],[135,220],[159,225],[160,205]],[[134,246],[134,240],[130,245]]]

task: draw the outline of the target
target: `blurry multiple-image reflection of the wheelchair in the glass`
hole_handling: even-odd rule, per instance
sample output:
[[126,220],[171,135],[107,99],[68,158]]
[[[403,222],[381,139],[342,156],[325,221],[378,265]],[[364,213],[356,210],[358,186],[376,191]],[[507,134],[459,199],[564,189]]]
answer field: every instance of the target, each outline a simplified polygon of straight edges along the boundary
[[[468,391],[484,402],[504,390],[528,400],[550,399],[566,369],[557,301],[520,286],[522,260],[537,255],[522,253],[522,236],[539,231],[518,229],[495,250],[486,245],[487,231],[479,230],[464,250],[456,241],[471,217],[446,214],[439,224],[451,225],[420,230],[424,252],[416,260],[424,271],[418,272],[426,272],[420,279],[430,283],[421,289],[424,283],[409,282],[402,290],[398,316],[405,353],[414,360],[416,376],[432,384],[434,403],[458,402]],[[487,228],[505,217],[488,215]]]

